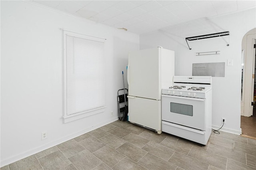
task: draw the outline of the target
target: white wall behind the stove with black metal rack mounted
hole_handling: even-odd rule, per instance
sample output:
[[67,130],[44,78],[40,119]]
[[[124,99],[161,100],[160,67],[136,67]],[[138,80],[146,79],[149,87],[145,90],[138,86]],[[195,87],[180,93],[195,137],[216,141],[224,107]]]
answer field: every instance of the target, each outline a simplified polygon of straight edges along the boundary
[[[212,127],[241,133],[241,47],[246,32],[256,27],[256,8],[218,18],[187,22],[140,36],[140,49],[162,46],[175,51],[175,75],[192,75],[192,63],[225,62],[225,77],[212,77]],[[230,31],[230,37],[209,38],[188,42],[186,37]],[[230,43],[227,46],[227,43]],[[195,56],[196,52],[220,51],[220,55]],[[227,60],[233,66],[227,66]]]

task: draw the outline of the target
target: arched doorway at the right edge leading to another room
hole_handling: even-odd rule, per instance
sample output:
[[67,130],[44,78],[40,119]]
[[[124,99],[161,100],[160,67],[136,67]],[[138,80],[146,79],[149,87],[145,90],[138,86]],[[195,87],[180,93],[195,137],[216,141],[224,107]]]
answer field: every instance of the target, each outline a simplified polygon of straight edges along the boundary
[[242,40],[241,88],[242,134],[256,138],[256,79],[254,79],[256,60],[254,44],[256,44],[256,28],[247,32]]

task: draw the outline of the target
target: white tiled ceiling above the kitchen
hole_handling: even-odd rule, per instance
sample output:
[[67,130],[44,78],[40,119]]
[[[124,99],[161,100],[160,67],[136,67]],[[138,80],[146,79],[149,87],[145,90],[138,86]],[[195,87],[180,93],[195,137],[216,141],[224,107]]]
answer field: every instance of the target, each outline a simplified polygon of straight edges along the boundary
[[[256,7],[255,0],[31,0],[135,34]],[[123,29],[123,30],[125,30]]]

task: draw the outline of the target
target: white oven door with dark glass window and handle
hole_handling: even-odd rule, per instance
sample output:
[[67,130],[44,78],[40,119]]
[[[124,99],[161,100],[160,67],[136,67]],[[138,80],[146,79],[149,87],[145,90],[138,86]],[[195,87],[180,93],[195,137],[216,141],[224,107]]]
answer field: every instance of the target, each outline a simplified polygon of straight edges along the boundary
[[206,99],[162,95],[162,120],[206,130]]

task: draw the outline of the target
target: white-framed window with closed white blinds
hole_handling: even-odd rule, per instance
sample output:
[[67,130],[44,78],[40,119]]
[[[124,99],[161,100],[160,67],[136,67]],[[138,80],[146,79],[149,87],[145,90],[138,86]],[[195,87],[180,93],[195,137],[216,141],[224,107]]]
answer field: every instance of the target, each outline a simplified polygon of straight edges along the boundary
[[64,123],[105,107],[104,40],[63,30]]

